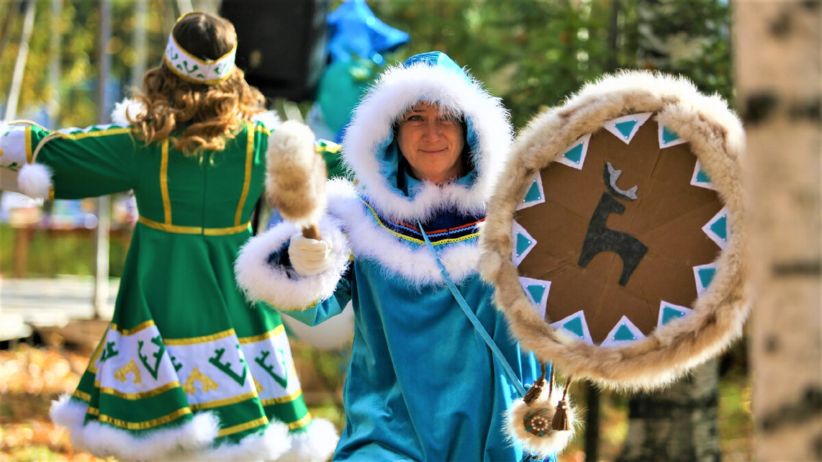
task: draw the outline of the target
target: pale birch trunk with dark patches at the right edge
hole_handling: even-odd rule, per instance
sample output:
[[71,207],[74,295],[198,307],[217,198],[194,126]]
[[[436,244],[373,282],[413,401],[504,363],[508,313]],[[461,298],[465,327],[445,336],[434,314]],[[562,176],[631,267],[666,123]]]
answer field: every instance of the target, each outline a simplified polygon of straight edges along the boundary
[[820,0],[740,0],[756,460],[822,460]]

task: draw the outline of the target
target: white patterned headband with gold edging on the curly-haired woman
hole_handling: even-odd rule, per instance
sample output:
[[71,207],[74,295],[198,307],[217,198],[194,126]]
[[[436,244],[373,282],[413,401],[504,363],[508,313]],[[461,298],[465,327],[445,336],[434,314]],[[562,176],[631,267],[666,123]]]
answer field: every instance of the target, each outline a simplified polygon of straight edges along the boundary
[[169,34],[169,44],[165,47],[163,62],[184,81],[205,85],[214,85],[229,78],[234,72],[234,57],[237,54],[235,45],[229,53],[217,59],[201,59],[188,53],[177,43],[173,34]]

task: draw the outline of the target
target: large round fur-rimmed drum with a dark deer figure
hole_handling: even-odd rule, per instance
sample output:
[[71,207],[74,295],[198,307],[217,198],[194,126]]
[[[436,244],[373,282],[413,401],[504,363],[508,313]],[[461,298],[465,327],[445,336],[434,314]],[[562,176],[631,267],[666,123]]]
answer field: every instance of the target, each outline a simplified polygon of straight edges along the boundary
[[741,334],[744,133],[689,81],[621,72],[538,114],[487,210],[483,278],[567,377],[663,386]]

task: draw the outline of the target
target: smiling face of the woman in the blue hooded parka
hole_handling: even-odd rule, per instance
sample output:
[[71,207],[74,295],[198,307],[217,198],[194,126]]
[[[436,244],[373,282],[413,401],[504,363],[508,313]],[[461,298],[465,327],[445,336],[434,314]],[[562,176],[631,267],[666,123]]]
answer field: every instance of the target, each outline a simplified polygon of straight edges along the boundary
[[397,144],[408,160],[411,175],[441,184],[464,175],[459,159],[465,144],[463,124],[453,113],[428,101],[414,104],[399,119]]

